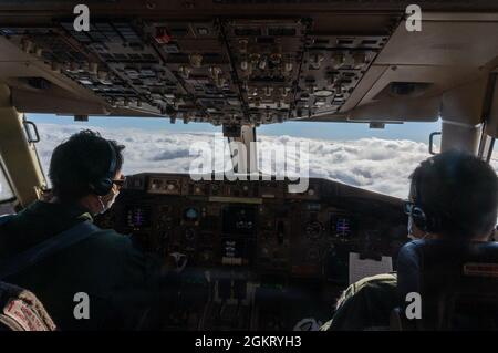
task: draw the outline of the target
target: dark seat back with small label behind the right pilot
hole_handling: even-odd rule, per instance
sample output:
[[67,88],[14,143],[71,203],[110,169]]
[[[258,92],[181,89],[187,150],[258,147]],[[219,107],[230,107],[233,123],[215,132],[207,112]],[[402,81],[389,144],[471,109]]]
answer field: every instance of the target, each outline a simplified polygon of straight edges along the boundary
[[[392,312],[392,330],[498,330],[498,242],[408,242],[397,281],[403,304]],[[421,294],[419,318],[407,318],[411,292]]]

